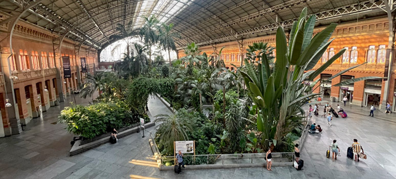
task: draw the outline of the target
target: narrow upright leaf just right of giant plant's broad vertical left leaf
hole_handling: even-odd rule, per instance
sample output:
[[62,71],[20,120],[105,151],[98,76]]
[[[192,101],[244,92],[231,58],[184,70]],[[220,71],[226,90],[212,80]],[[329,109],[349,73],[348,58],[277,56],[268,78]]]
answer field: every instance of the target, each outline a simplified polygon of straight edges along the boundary
[[302,19],[298,25],[297,33],[293,39],[292,51],[290,52],[290,64],[297,64],[297,60],[301,54],[302,42],[304,40],[304,23],[305,20]]

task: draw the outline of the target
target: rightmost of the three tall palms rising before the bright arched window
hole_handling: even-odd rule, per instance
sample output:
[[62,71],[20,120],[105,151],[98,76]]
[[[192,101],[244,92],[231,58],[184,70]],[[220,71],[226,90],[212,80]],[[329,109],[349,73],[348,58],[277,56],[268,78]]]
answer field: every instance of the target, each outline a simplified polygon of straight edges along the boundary
[[173,28],[173,24],[162,24],[162,28],[160,28],[160,44],[162,48],[168,50],[169,57],[169,66],[172,66],[170,62],[170,50],[176,50],[176,46],[174,45],[174,38],[179,38],[179,34],[176,32],[171,32]]

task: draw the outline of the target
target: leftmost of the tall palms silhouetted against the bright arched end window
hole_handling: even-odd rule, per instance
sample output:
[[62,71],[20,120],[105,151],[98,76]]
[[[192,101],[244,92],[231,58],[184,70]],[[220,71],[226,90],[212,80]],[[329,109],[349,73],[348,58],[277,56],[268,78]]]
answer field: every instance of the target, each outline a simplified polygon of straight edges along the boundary
[[[119,32],[119,34],[115,34],[109,37],[111,41],[115,40],[123,40],[126,44],[126,54],[131,55],[131,45],[133,44],[133,41],[130,37],[132,36],[141,36],[141,29],[134,29],[133,27],[133,21],[130,20],[126,25],[124,24],[117,24],[116,26],[116,31]],[[118,44],[112,49],[112,55],[114,52],[121,47],[121,44]]]

